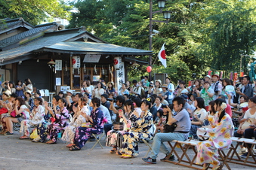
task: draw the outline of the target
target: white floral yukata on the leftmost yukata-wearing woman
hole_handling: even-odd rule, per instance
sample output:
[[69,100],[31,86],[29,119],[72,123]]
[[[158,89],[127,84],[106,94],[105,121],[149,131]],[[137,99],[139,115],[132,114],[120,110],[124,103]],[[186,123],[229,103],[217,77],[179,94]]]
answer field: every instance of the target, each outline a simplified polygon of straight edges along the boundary
[[45,108],[39,105],[30,114],[29,120],[22,120],[20,123],[20,133],[29,136],[29,128],[42,123],[45,116]]

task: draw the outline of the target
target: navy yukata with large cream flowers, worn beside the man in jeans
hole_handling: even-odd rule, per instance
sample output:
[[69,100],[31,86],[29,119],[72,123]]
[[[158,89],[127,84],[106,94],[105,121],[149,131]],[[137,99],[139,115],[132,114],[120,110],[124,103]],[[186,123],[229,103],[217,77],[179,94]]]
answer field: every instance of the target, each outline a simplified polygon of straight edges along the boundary
[[150,140],[153,134],[148,130],[153,126],[153,116],[148,111],[142,118],[131,115],[131,131],[125,132],[122,152],[131,156],[139,154],[138,142],[140,139]]

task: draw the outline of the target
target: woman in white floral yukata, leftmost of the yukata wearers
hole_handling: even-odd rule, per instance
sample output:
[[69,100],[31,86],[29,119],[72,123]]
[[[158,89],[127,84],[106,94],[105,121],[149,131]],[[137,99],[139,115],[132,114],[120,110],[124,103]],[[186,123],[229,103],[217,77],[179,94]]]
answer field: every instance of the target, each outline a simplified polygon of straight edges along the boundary
[[30,113],[30,117],[28,120],[22,120],[20,123],[20,139],[29,138],[29,128],[31,126],[36,126],[42,122],[43,117],[45,116],[45,108],[42,106],[42,99],[35,98],[35,107],[32,112],[29,109],[26,109]]

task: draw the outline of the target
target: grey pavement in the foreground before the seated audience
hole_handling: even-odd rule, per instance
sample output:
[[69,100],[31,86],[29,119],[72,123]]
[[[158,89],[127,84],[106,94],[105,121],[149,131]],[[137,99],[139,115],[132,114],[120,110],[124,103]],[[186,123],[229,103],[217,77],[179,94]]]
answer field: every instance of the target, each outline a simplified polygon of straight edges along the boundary
[[[110,147],[105,147],[104,139],[100,145],[91,150],[94,142],[88,142],[79,151],[69,151],[65,142],[57,144],[34,143],[30,140],[20,140],[20,134],[14,131],[13,136],[0,135],[0,170],[19,169],[179,169],[187,170],[181,165],[160,162],[164,157],[159,153],[157,164],[144,163],[141,158],[147,153],[146,144],[139,144],[140,155],[133,159],[122,159],[116,154],[109,153]],[[177,149],[180,153],[180,149]],[[191,150],[189,151],[191,152]],[[192,152],[191,152],[192,153]],[[249,166],[229,164],[232,170],[256,169]],[[224,168],[226,169],[226,168]]]

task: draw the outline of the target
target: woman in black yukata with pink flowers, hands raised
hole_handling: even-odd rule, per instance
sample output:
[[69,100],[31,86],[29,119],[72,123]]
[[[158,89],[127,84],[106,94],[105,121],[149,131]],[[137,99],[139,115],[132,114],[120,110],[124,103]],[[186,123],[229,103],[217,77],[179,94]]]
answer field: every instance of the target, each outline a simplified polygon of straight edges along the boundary
[[50,140],[46,144],[56,144],[58,133],[69,125],[69,111],[66,109],[66,99],[60,98],[58,104],[60,109],[56,110],[56,105],[54,105],[55,111],[50,111],[53,119],[51,125],[48,126],[48,138]]

